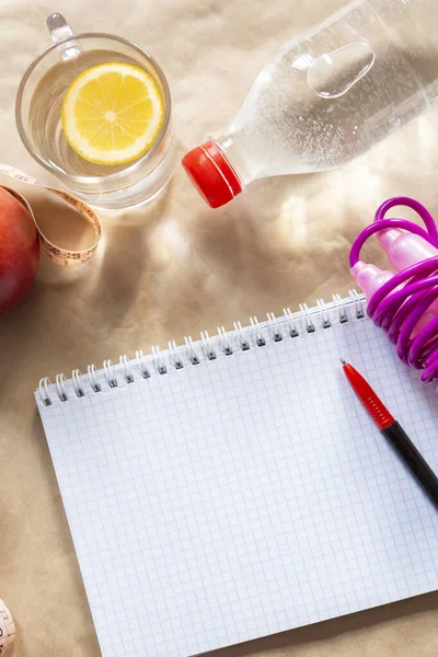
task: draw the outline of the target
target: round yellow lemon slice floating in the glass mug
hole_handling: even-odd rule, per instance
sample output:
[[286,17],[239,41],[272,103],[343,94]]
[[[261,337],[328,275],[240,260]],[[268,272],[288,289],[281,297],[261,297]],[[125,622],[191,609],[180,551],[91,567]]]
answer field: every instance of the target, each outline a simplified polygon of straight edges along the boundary
[[110,62],[83,71],[64,97],[62,129],[71,148],[95,164],[124,164],[152,146],[163,100],[149,73]]

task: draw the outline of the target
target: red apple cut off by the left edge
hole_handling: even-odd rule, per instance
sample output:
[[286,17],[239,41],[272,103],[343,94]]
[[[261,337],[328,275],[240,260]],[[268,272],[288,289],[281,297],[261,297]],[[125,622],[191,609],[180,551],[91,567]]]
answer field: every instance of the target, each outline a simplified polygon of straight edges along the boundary
[[38,234],[30,211],[0,187],[0,312],[26,295],[38,263]]

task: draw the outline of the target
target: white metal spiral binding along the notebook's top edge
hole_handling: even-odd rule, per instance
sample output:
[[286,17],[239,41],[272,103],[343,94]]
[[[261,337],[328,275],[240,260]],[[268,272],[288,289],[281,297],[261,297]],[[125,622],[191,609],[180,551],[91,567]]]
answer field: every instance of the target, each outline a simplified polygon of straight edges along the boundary
[[[276,318],[274,313],[267,313],[267,322],[258,323],[256,316],[250,318],[250,325],[246,331],[240,322],[234,322],[234,347],[230,339],[229,332],[223,326],[218,327],[217,346],[208,332],[200,333],[200,341],[195,345],[191,336],[184,338],[184,345],[178,347],[174,341],[169,343],[168,362],[164,354],[158,346],[151,348],[151,356],[147,356],[142,350],[136,351],[136,365],[129,360],[126,355],[119,357],[119,364],[115,366],[112,360],[103,361],[103,378],[99,380],[95,365],[89,365],[87,374],[82,374],[79,369],[71,372],[71,389],[68,390],[67,379],[64,373],[58,373],[55,380],[55,394],[60,402],[68,402],[70,396],[83,397],[91,393],[101,393],[104,388],[111,390],[117,388],[120,383],[134,383],[136,379],[149,379],[153,376],[153,369],[158,374],[166,374],[169,368],[176,370],[185,367],[200,364],[204,356],[207,360],[216,360],[218,347],[226,356],[232,356],[235,349],[247,351],[251,349],[249,337],[252,334],[255,347],[266,345],[269,336],[274,342],[281,342],[286,337],[298,337],[300,335],[300,321],[304,325],[307,333],[314,333],[320,328],[330,328],[332,320],[330,311],[334,311],[337,321],[341,324],[348,322],[347,308],[355,310],[357,320],[365,318],[365,297],[358,295],[356,290],[349,291],[348,299],[342,299],[339,295],[333,295],[332,303],[327,304],[322,299],[318,299],[316,307],[309,309],[306,303],[300,303],[300,311],[292,313],[290,308],[283,309],[283,316]],[[237,347],[235,347],[237,341]],[[184,362],[181,356],[181,349],[185,348],[188,362]],[[88,387],[84,382],[88,382]],[[38,395],[45,406],[53,404],[49,385],[51,381],[48,377],[41,379],[38,384]],[[88,390],[87,390],[88,388]]]

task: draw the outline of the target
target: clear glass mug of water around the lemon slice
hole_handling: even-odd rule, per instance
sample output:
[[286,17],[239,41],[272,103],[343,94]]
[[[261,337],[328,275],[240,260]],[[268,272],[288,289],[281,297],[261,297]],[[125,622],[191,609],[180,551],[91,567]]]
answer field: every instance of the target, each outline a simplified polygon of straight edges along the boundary
[[[169,182],[175,160],[171,135],[171,95],[155,60],[139,46],[110,34],[74,35],[58,13],[47,19],[54,44],[31,64],[20,83],[15,117],[23,145],[42,166],[87,203],[119,209],[151,200]],[[146,70],[163,105],[161,129],[151,148],[132,162],[93,164],[68,143],[61,125],[64,95],[82,71],[120,61]]]

